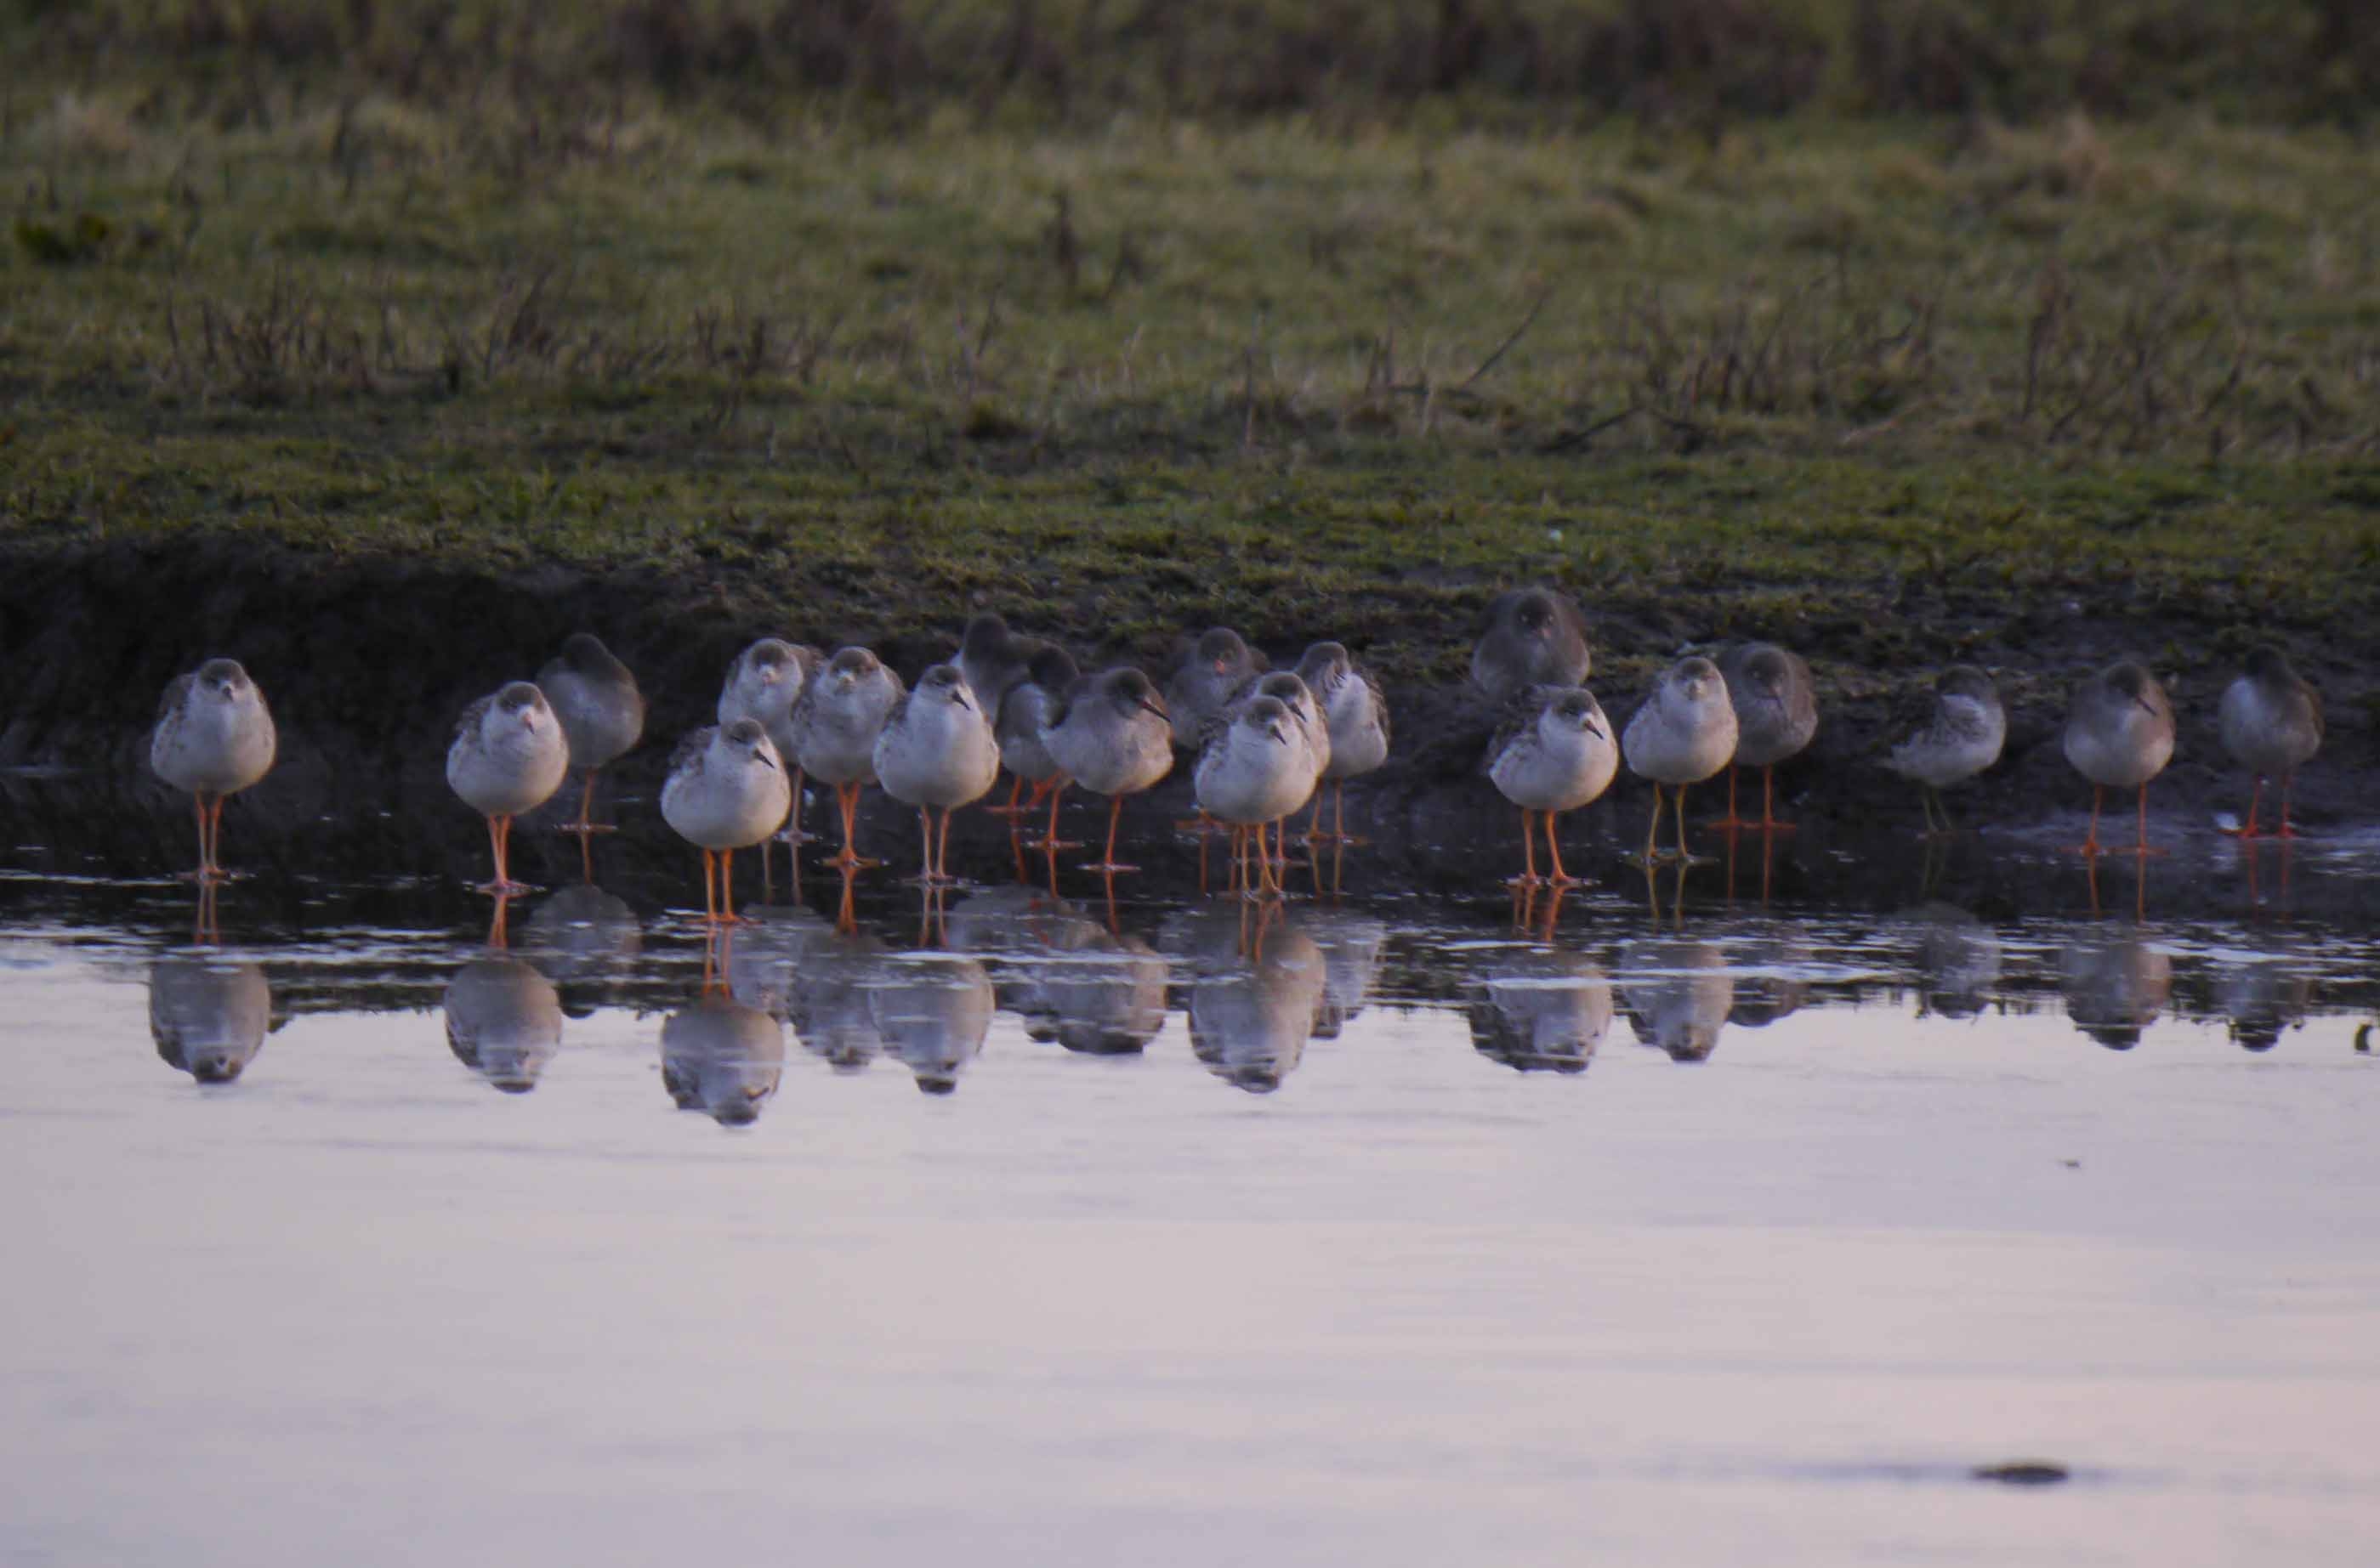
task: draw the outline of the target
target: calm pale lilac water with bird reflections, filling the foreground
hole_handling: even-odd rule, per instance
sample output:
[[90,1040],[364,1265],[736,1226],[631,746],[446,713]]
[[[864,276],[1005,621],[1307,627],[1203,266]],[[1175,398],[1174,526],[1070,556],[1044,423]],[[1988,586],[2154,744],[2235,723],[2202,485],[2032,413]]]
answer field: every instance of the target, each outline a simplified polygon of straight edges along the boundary
[[0,1561],[2370,1561],[2375,859],[2013,857],[712,952],[19,847]]

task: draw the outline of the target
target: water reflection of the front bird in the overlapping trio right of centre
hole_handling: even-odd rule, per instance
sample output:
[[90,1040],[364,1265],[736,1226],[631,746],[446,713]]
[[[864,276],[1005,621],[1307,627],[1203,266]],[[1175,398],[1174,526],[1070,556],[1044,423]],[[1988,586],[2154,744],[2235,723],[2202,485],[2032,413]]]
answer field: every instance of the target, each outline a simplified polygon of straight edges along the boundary
[[[1221,921],[1202,923],[1190,983],[1190,1049],[1223,1083],[1271,1095],[1304,1056],[1330,995],[1328,961],[1278,902],[1240,909],[1228,957]],[[1226,911],[1228,918],[1228,911]]]

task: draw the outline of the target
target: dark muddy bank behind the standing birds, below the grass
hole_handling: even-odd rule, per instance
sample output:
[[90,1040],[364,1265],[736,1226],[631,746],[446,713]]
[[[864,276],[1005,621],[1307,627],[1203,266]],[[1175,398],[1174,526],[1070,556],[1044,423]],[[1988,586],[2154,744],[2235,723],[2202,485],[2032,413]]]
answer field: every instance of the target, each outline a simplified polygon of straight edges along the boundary
[[[1478,600],[1492,592],[1480,585]],[[654,581],[540,566],[514,576],[443,571],[412,562],[336,562],[264,552],[248,542],[198,540],[178,547],[95,547],[0,557],[0,769],[74,769],[131,790],[178,845],[174,802],[148,778],[145,735],[164,683],[209,654],[243,659],[281,723],[283,754],[257,792],[257,814],[352,816],[371,828],[393,873],[445,859],[431,845],[452,835],[443,757],[455,714],[507,678],[531,676],[571,631],[597,631],[638,671],[652,702],[647,745],[616,769],[614,790],[647,799],[671,740],[709,723],[728,659],[762,633],[833,647],[864,640],[904,676],[957,645],[964,604],[902,611],[807,597],[788,585],[776,609],[754,585],[704,576]],[[1706,611],[1706,614],[1704,614]],[[1297,604],[1269,604],[1247,631],[1276,661],[1311,635],[1335,633],[1357,647],[1461,650],[1468,623],[1366,628],[1299,626]],[[2240,811],[2247,778],[2216,738],[2216,700],[2254,628],[2154,614],[2125,604],[1997,604],[1978,597],[1904,595],[1892,623],[1799,616],[1764,623],[1740,600],[1640,602],[1626,590],[1587,597],[1597,671],[1590,680],[1614,719],[1626,721],[1668,657],[1721,633],[1773,635],[1806,652],[1821,680],[1818,740],[1778,773],[1780,809],[1814,826],[1873,833],[1914,828],[1914,790],[1878,759],[1923,711],[1933,671],[1968,659],[1994,671],[2009,700],[2002,764],[1954,795],[1964,823],[2033,828],[2073,814],[2090,792],[2059,749],[2066,692],[2078,673],[2121,652],[2147,657],[2171,683],[2180,752],[2152,790],[2152,821],[2204,830],[2211,814]],[[931,623],[919,623],[931,621]],[[1095,661],[1161,664],[1159,647],[1116,647],[1095,626],[1033,626]],[[2380,816],[2380,642],[2282,631],[2299,666],[2328,700],[2330,738],[2299,780],[2309,828],[2354,828]],[[1445,669],[1452,659],[1438,659]],[[1352,826],[1414,845],[1471,838],[1468,823],[1502,823],[1507,807],[1478,771],[1488,716],[1459,685],[1426,683],[1383,664],[1397,745],[1380,773],[1347,792]],[[1176,811],[1188,780],[1176,776],[1150,811]],[[1716,809],[1716,795],[1697,792]],[[1649,795],[1621,778],[1590,819],[1590,833],[1640,823]],[[414,826],[419,816],[438,826]],[[873,802],[876,830],[902,814]],[[469,823],[464,823],[469,828]],[[419,838],[421,842],[412,842]],[[469,840],[469,830],[462,835]]]

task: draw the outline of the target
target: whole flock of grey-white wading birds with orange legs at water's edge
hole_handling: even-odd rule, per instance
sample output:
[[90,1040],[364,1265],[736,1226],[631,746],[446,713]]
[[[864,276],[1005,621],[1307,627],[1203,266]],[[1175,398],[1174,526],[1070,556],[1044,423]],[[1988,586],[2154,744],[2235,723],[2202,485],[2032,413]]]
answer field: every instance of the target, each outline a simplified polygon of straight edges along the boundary
[[[1773,642],[1728,647],[1718,659],[1671,664],[1626,730],[1614,730],[1587,678],[1585,616],[1545,588],[1499,595],[1471,650],[1471,678],[1499,702],[1504,723],[1488,747],[1488,776],[1521,807],[1523,885],[1568,885],[1554,819],[1597,799],[1621,761],[1654,785],[1645,861],[1685,857],[1685,790],[1728,769],[1728,819],[1721,826],[1787,830],[1773,816],[1773,769],[1818,730],[1809,664]],[[2244,838],[2259,838],[2263,780],[2280,776],[2280,838],[2290,838],[2290,780],[2323,742],[2320,695],[2271,647],[2249,654],[2223,692],[2223,745],[2256,776]],[[447,783],[488,819],[495,880],[481,890],[521,892],[507,876],[512,819],[545,804],[576,769],[585,773],[571,830],[588,821],[595,773],[645,733],[645,695],[626,664],[578,633],[538,671],[464,709],[447,749]],[[1947,833],[1940,790],[1983,773],[1999,759],[2006,714],[1992,678],[1954,666],[1935,688],[1930,721],[1899,742],[1887,766],[1923,788],[1928,833]],[[176,678],[157,709],[150,764],[190,790],[198,811],[202,880],[219,861],[224,797],[274,766],[274,721],[264,695],[233,659],[209,659]],[[976,616],[957,659],[926,669],[916,685],[866,647],[833,657],[781,638],[762,638],[728,666],[719,723],[678,742],[662,785],[662,816],[702,849],[702,902],[712,923],[735,921],[728,878],[735,849],[766,845],[802,799],[802,778],[835,790],[843,849],[831,864],[850,871],[859,790],[919,809],[923,880],[952,883],[945,868],[950,814],[985,795],[1004,766],[1014,773],[1012,816],[1050,802],[1057,849],[1057,802],[1069,785],[1109,797],[1107,854],[1090,871],[1116,873],[1116,821],[1126,795],[1152,788],[1173,769],[1176,749],[1195,754],[1202,821],[1233,835],[1233,888],[1278,895],[1266,830],[1314,804],[1309,842],[1345,838],[1345,799],[1333,830],[1321,830],[1321,785],[1338,795],[1347,778],[1388,759],[1388,702],[1378,683],[1340,642],[1316,642],[1295,671],[1271,671],[1235,631],[1211,628],[1188,642],[1159,692],[1133,666],[1081,673],[1054,642],[1012,633],[995,614]],[[2156,678],[2135,661],[2111,664],[2073,695],[2066,759],[2092,783],[2092,828],[2080,845],[2099,854],[2099,807],[2106,790],[2140,790],[2137,838],[2125,852],[2147,854],[2149,780],[2173,757],[2173,707]],[[1761,816],[1735,819],[1735,766],[1764,773]],[[788,778],[790,771],[790,778]],[[1019,804],[1031,785],[1033,797]],[[1659,847],[1664,792],[1676,792],[1678,847]],[[940,826],[935,826],[940,814]],[[1545,821],[1549,873],[1535,857]],[[1940,821],[1940,828],[1937,828]],[[800,821],[788,833],[797,835]],[[1254,838],[1254,857],[1250,840]],[[764,849],[766,854],[766,849]]]

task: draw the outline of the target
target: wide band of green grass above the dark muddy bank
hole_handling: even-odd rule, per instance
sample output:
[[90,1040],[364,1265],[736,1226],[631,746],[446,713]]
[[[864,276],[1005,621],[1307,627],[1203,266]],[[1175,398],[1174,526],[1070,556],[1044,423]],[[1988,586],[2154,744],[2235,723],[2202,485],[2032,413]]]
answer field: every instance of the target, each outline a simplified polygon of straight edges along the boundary
[[812,635],[1233,619],[1414,676],[1518,578],[1645,657],[2375,623],[2342,133],[112,102],[0,140],[0,552],[564,562]]

